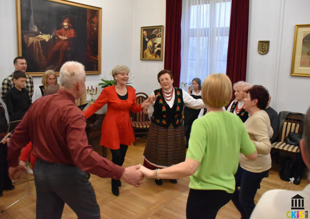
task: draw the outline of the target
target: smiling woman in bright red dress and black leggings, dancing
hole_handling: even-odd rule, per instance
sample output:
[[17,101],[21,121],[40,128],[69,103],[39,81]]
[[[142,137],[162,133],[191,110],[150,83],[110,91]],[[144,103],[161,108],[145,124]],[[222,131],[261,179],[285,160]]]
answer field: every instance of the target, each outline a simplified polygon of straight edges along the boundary
[[[101,107],[108,104],[108,111],[102,123],[100,145],[110,148],[112,162],[119,166],[124,163],[128,145],[135,141],[129,109],[132,113],[138,113],[152,102],[151,97],[149,97],[143,103],[137,105],[135,89],[126,86],[129,72],[129,68],[125,65],[114,67],[112,76],[116,84],[104,88],[95,103],[91,104],[84,112],[86,119],[88,119]],[[112,193],[118,196],[118,186],[121,186],[121,181],[112,179],[111,183]]]

